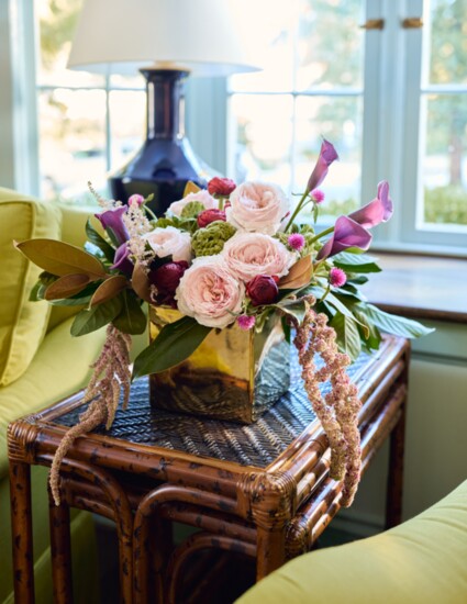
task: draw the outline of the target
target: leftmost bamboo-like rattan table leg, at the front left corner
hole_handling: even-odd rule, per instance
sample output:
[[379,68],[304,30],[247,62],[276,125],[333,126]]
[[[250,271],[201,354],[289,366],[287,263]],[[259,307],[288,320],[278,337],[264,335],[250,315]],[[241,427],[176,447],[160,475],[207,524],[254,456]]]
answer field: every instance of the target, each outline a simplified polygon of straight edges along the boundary
[[31,467],[10,461],[11,535],[13,544],[14,601],[34,604]]

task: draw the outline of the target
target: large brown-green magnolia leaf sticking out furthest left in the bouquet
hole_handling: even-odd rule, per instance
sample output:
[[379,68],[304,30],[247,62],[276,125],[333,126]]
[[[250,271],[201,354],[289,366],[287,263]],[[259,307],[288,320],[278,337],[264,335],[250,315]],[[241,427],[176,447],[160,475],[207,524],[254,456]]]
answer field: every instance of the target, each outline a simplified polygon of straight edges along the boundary
[[84,249],[55,239],[29,239],[14,246],[32,262],[52,275],[88,275],[91,280],[105,277],[100,260]]

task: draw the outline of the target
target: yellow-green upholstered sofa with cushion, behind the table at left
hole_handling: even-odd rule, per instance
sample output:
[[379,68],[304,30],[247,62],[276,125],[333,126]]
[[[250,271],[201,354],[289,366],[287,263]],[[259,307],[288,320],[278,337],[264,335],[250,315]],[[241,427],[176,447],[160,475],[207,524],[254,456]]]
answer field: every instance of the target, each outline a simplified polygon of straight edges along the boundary
[[[45,203],[0,189],[0,603],[13,602],[7,426],[82,388],[98,356],[104,331],[73,338],[70,307],[30,302],[40,269],[26,261],[12,239],[63,238],[81,245],[86,210]],[[48,547],[47,471],[33,468],[34,564],[36,602],[52,602]],[[73,518],[75,601],[97,601],[96,544],[92,518]],[[86,568],[86,571],[84,570]],[[86,574],[84,574],[86,572]]]

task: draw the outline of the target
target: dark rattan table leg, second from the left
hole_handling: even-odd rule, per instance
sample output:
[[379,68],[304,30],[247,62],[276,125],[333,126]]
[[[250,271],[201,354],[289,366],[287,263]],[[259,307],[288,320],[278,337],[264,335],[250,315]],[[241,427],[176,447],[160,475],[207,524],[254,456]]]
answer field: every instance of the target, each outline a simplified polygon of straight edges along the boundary
[[48,517],[51,524],[54,603],[73,604],[69,507],[64,502],[60,505],[55,505],[51,491],[48,491]]

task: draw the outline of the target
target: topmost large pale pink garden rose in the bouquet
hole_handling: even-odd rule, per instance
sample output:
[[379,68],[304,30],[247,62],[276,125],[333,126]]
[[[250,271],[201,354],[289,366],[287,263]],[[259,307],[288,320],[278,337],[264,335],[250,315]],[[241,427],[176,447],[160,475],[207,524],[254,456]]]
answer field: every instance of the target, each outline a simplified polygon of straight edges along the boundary
[[243,231],[274,235],[290,202],[280,187],[268,182],[244,182],[230,197],[227,222]]

